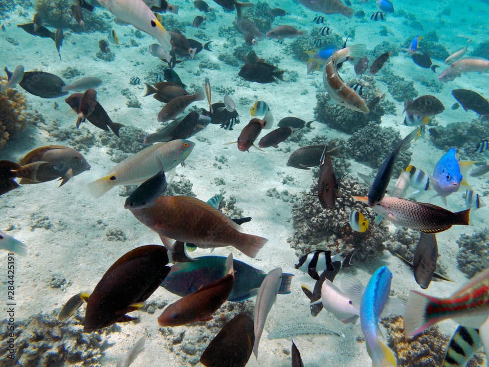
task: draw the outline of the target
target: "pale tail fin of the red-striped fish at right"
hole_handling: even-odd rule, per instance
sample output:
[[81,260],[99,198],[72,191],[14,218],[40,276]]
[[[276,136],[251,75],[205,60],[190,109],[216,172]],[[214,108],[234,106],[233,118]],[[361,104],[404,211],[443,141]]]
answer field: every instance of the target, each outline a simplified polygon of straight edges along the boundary
[[421,333],[427,327],[441,321],[442,318],[429,316],[426,308],[430,303],[438,304],[436,297],[422,294],[418,291],[411,291],[407,299],[406,312],[402,316],[404,321],[404,333],[407,336],[413,336]]

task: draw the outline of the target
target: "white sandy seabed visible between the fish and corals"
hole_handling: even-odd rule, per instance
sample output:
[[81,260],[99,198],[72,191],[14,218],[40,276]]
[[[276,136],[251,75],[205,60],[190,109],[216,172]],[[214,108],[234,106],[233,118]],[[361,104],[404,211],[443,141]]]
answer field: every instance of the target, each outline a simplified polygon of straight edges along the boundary
[[[287,2],[289,3],[289,1]],[[212,4],[216,5],[216,4]],[[279,2],[270,4],[271,7],[281,6]],[[449,4],[444,4],[448,6]],[[453,4],[456,5],[455,2]],[[292,15],[279,19],[275,25],[291,24],[298,28],[311,28],[311,19],[315,14],[304,9],[297,3],[291,3]],[[375,4],[354,3],[354,7],[363,6],[363,10],[370,14],[377,10]],[[404,5],[407,6],[407,5]],[[218,8],[218,6],[215,6]],[[430,9],[423,9],[425,19],[435,20],[436,15],[443,9],[441,5],[433,6]],[[1,33],[0,49],[1,64],[9,69],[14,69],[16,65],[22,64],[25,70],[39,69],[61,75],[68,66],[81,70],[85,76],[97,76],[103,80],[103,85],[97,89],[98,100],[108,111],[111,118],[120,123],[132,125],[144,129],[148,133],[153,132],[159,126],[156,122],[156,115],[161,108],[161,104],[151,97],[143,98],[144,90],[141,86],[132,86],[129,79],[132,76],[139,76],[144,81],[144,76],[154,70],[159,61],[152,57],[147,51],[147,46],[155,40],[146,36],[138,42],[137,47],[125,47],[129,44],[133,36],[132,27],[113,26],[119,36],[120,46],[111,45],[112,51],[116,54],[113,62],[103,62],[95,57],[98,51],[98,40],[105,38],[102,34],[77,34],[65,32],[64,46],[62,47],[63,61],[60,62],[55,47],[51,40],[32,37],[17,28],[16,24],[26,23],[32,18],[33,8],[29,9],[28,16],[20,15],[17,8],[11,17],[3,22],[6,31]],[[101,11],[97,9],[96,11]],[[446,20],[445,28],[439,29],[441,42],[449,50],[454,50],[462,46],[463,40],[454,37],[454,33],[469,33],[473,38],[472,45],[484,41],[485,34],[482,29],[487,27],[483,23],[484,9],[477,17],[472,18],[471,24],[466,24],[467,29],[453,27],[450,19]],[[191,2],[182,5],[178,17],[189,22],[197,15],[197,10],[193,8]],[[167,15],[173,16],[173,15]],[[274,113],[275,120],[288,115],[295,115],[311,120],[313,118],[313,108],[316,104],[315,93],[317,87],[322,87],[320,73],[306,75],[305,65],[292,59],[283,51],[280,44],[264,40],[254,49],[260,57],[265,59],[280,55],[282,60],[279,68],[288,71],[296,71],[299,80],[295,83],[277,82],[271,84],[244,83],[237,76],[238,68],[232,68],[217,59],[220,52],[225,52],[226,40],[217,36],[219,25],[231,24],[234,14],[224,13],[219,10],[217,21],[207,23],[204,32],[214,39],[212,44],[213,52],[202,51],[197,55],[196,60],[185,61],[176,68],[181,79],[186,84],[203,85],[204,77],[208,77],[213,86],[232,88],[235,92],[231,97],[237,104],[237,110],[241,117],[241,124],[234,131],[228,132],[219,129],[217,125],[209,125],[198,137],[191,138],[196,141],[196,146],[186,161],[186,167],[178,167],[177,173],[184,175],[193,183],[193,191],[202,200],[207,200],[211,196],[219,193],[224,188],[225,196],[234,195],[237,198],[237,206],[244,209],[244,215],[249,215],[253,219],[244,225],[247,233],[253,233],[268,238],[265,248],[255,259],[250,259],[233,248],[219,248],[213,254],[226,256],[230,251],[235,258],[243,260],[259,269],[269,271],[277,266],[283,268],[284,272],[295,274],[292,282],[292,293],[288,296],[279,296],[276,305],[272,308],[265,332],[260,343],[260,359],[257,362],[251,356],[248,366],[289,366],[290,357],[284,353],[284,349],[290,349],[290,340],[278,339],[268,340],[267,332],[277,323],[283,323],[284,319],[292,321],[311,320],[308,299],[300,290],[300,284],[305,283],[310,287],[313,282],[308,275],[302,274],[293,268],[297,258],[294,250],[290,249],[287,238],[292,235],[293,228],[291,223],[291,204],[285,203],[280,199],[266,195],[267,190],[275,187],[279,192],[288,190],[292,194],[299,193],[308,189],[312,183],[311,171],[296,170],[286,166],[289,154],[267,149],[265,153],[251,149],[249,153],[239,152],[235,145],[224,146],[225,142],[235,141],[243,126],[247,123],[249,116],[249,104],[241,104],[240,100],[265,100]],[[487,19],[487,18],[485,18]],[[411,34],[418,33],[416,30],[402,24],[403,18],[390,17],[385,25],[391,31],[389,40],[401,43]],[[328,22],[335,32],[345,28],[346,18],[334,15],[328,17]],[[219,23],[218,23],[219,22]],[[368,46],[376,45],[385,38],[380,37],[372,31],[372,23],[360,23],[355,18],[348,20],[349,26],[356,28],[355,43],[366,43]],[[434,22],[434,21],[433,21]],[[453,21],[455,22],[455,21]],[[328,24],[328,25],[329,25]],[[481,24],[479,28],[477,24]],[[374,24],[375,25],[375,24]],[[481,28],[482,27],[482,28]],[[478,31],[479,29],[480,31]],[[194,28],[188,26],[186,35],[192,37]],[[6,41],[6,37],[11,37],[19,42],[13,46]],[[287,44],[290,42],[286,40]],[[372,46],[373,47],[373,46]],[[200,76],[196,76],[199,60],[209,58],[218,63],[221,70],[202,70]],[[436,75],[429,69],[417,68],[408,57],[400,54],[392,57],[389,62],[390,67],[396,73],[405,78],[414,78],[416,81],[422,78],[436,78]],[[344,79],[353,77],[353,68],[344,67],[342,70]],[[287,73],[286,73],[287,75]],[[456,88],[469,88],[488,95],[487,88],[482,86],[488,83],[487,75],[471,74],[458,78],[449,85],[444,86],[441,93],[436,94],[445,104],[446,110],[437,117],[440,124],[445,125],[454,121],[468,121],[475,117],[472,112],[466,113],[463,109],[452,111],[449,106],[454,102],[450,91]],[[239,86],[239,87],[237,87]],[[380,81],[377,87],[387,92],[387,87]],[[126,106],[126,97],[120,94],[120,90],[129,88],[141,102],[141,109],[132,109]],[[416,82],[416,89],[419,94],[431,94],[429,90]],[[214,92],[213,102],[222,101],[223,95]],[[387,92],[387,98],[392,99]],[[59,121],[62,127],[72,127],[74,129],[75,115],[68,113],[68,106],[63,99],[57,99],[60,104],[58,110],[53,109],[53,100],[41,99],[33,95],[27,95],[32,109],[39,111],[46,123]],[[199,107],[207,107],[206,101],[196,104]],[[395,126],[400,130],[401,136],[405,136],[411,130],[401,125],[403,106],[396,102],[397,115],[385,115],[382,118],[382,126]],[[330,130],[326,125],[315,123],[315,127],[307,138],[314,135],[327,135],[330,138],[345,137],[345,135]],[[89,123],[81,126],[81,129],[97,130]],[[44,130],[35,127],[27,129],[20,134],[28,135],[29,139],[22,139],[22,144],[12,140],[5,149],[1,151],[0,159],[16,160],[21,158],[26,152],[35,147],[47,144],[63,144],[62,141],[53,141]],[[121,130],[121,135],[124,129]],[[206,138],[207,140],[201,141]],[[29,141],[29,144],[25,142]],[[286,142],[282,146],[290,146],[291,151],[299,146],[296,143]],[[418,140],[411,148],[413,152],[412,164],[422,168],[426,172],[431,172],[436,161],[444,152],[434,148],[429,144],[428,138]],[[222,169],[214,166],[215,157],[225,156],[227,162],[222,164]],[[9,234],[22,240],[29,248],[28,256],[16,256],[16,300],[18,320],[23,320],[29,316],[40,312],[51,313],[53,309],[59,308],[64,302],[79,292],[80,290],[93,289],[101,275],[108,267],[122,254],[133,248],[151,243],[160,243],[155,232],[140,224],[133,215],[123,208],[125,198],[117,195],[117,189],[111,190],[100,199],[93,199],[86,188],[86,185],[101,177],[107,172],[113,162],[110,160],[105,149],[94,147],[85,158],[92,166],[88,172],[75,177],[73,180],[61,188],[58,183],[53,181],[39,185],[26,185],[21,189],[14,190],[2,196],[0,202],[0,228],[6,229],[14,226]],[[355,176],[357,171],[370,173],[371,169],[367,166],[352,162],[352,174]],[[282,183],[285,176],[292,176],[293,182]],[[225,181],[225,186],[216,186],[214,178],[220,177]],[[471,178],[471,184],[478,192],[483,192],[488,188],[484,179]],[[462,191],[462,190],[461,190]],[[428,196],[422,197],[427,199]],[[461,210],[464,208],[462,192],[449,197],[449,208],[451,210]],[[435,202],[435,204],[440,204]],[[332,211],[332,215],[334,212]],[[443,233],[438,238],[440,262],[448,269],[455,283],[433,282],[427,293],[437,296],[446,296],[460,286],[460,282],[465,281],[466,276],[456,267],[456,253],[458,251],[455,241],[461,233],[471,234],[481,229],[484,225],[483,218],[487,215],[487,208],[479,210],[472,215],[473,226],[455,227]],[[53,227],[51,229],[31,229],[31,225],[39,217],[49,217]],[[100,222],[97,222],[100,221]],[[345,224],[346,225],[346,224]],[[123,242],[109,242],[105,232],[106,229],[121,229],[128,237]],[[391,226],[391,230],[395,230]],[[414,244],[413,244],[414,246]],[[208,251],[197,250],[195,256],[208,254]],[[6,253],[0,253],[0,262],[6,263]],[[357,269],[356,276],[366,283],[370,275],[381,265],[388,265],[394,274],[392,289],[395,293],[405,298],[410,289],[418,289],[417,284],[410,271],[395,259],[388,252],[379,256],[378,261],[369,265],[362,265]],[[2,267],[4,269],[4,267]],[[59,288],[50,288],[49,281],[53,274],[61,274],[69,282],[65,292]],[[2,283],[1,294],[6,294],[6,283]],[[159,288],[149,298],[149,300],[165,300],[173,302],[177,296]],[[166,341],[158,332],[156,318],[157,311],[153,315],[147,313],[134,312],[132,315],[139,316],[139,323],[121,323],[121,332],[110,334],[107,338],[113,345],[106,349],[103,365],[114,366],[119,356],[126,351],[139,339],[146,334],[146,348],[144,352],[133,363],[133,366],[180,366],[180,358],[171,353],[166,348]],[[2,313],[2,317],[3,313]],[[325,366],[343,365],[360,367],[370,365],[370,358],[366,352],[364,343],[356,342],[356,337],[361,336],[359,326],[343,325],[332,315],[323,311],[317,317],[317,321],[325,322],[334,330],[345,335],[344,338],[333,336],[317,337],[296,337],[296,344],[299,347],[302,358],[306,366]],[[192,326],[186,326],[187,333],[192,333]],[[442,330],[450,334],[455,329],[455,324],[448,321],[442,324]],[[176,331],[178,328],[176,328]],[[3,356],[1,357],[3,358]]]

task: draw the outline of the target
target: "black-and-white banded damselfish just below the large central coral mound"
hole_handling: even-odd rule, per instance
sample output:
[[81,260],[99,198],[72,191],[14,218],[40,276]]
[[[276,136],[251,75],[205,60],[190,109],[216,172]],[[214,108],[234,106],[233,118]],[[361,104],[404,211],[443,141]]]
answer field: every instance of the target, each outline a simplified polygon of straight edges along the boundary
[[299,258],[299,262],[294,265],[304,273],[308,273],[312,279],[318,280],[319,273],[331,268],[334,261],[342,262],[342,267],[352,266],[351,260],[355,252],[344,255],[343,252],[331,256],[329,250],[315,250]]

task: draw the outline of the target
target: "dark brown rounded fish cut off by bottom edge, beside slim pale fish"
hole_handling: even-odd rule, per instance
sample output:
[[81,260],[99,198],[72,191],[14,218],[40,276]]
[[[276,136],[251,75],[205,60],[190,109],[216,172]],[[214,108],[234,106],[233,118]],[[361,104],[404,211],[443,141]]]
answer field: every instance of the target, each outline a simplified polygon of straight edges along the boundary
[[246,314],[236,315],[205,348],[200,363],[205,367],[246,366],[255,343],[253,323]]

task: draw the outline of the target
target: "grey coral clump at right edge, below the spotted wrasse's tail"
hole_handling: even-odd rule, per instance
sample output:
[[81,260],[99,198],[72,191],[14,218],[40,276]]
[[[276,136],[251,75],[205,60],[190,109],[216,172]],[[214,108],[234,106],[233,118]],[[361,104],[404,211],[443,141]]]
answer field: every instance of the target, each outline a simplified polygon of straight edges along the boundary
[[457,266],[469,278],[486,268],[489,260],[489,228],[482,229],[471,236],[465,233],[457,240]]

